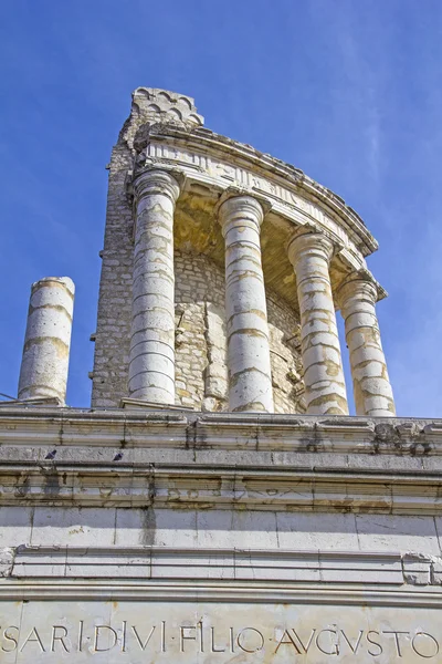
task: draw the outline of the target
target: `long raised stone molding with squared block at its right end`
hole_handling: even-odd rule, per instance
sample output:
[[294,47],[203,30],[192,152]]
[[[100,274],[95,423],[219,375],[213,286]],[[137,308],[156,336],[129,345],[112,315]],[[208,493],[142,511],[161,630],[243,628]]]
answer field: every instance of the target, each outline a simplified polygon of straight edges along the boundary
[[[13,554],[12,554],[13,551]],[[419,560],[418,560],[419,559]],[[22,546],[9,551],[11,578],[211,579],[230,582],[440,585],[441,561],[399,553]],[[13,561],[13,562],[12,562]],[[12,564],[11,564],[12,562]],[[420,578],[410,571],[419,564]],[[413,567],[414,566],[414,567]],[[422,574],[427,574],[423,578]]]

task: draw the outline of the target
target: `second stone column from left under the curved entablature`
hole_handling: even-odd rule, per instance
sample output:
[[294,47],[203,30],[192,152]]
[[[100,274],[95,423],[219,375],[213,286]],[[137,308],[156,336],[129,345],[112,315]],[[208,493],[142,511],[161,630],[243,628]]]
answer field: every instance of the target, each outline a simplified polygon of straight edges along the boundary
[[251,196],[220,207],[225,240],[229,409],[273,412],[267,307],[261,264],[263,209]]

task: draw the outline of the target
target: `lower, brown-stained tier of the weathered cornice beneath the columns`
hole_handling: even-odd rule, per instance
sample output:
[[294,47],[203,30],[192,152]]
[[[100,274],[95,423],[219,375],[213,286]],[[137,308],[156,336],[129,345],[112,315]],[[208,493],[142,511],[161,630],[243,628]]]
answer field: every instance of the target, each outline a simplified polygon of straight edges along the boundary
[[[115,452],[115,458],[122,456]],[[361,474],[358,468],[327,471],[191,461],[190,454],[173,465],[105,464],[103,458],[0,464],[0,506],[442,513],[440,474],[422,473],[418,478],[411,473]]]

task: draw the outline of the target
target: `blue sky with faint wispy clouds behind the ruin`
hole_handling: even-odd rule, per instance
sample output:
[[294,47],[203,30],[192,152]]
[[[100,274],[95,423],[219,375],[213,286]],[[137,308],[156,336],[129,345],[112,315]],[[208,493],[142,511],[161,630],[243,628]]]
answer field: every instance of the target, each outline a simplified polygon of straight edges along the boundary
[[361,215],[398,414],[442,415],[440,0],[14,0],[0,52],[0,392],[17,393],[30,284],[67,274],[67,401],[90,404],[105,165],[146,85]]

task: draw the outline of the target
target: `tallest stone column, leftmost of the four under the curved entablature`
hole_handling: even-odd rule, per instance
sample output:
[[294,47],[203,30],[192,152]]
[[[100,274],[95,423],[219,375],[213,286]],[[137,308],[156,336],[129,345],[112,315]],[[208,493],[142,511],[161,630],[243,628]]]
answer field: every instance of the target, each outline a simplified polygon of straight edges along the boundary
[[134,183],[136,227],[129,396],[175,404],[173,212],[180,187],[166,170]]

